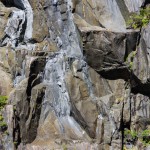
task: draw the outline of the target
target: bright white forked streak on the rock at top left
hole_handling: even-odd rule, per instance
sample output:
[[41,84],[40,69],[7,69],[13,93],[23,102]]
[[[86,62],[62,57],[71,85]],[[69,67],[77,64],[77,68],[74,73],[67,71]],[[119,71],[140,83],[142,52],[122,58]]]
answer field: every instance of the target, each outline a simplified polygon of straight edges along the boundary
[[[7,43],[14,48],[20,36],[24,36],[25,41],[32,38],[33,11],[28,0],[22,0],[22,3],[25,10],[14,10],[5,28],[7,37],[4,39],[3,44]],[[21,35],[25,21],[27,21],[25,35]]]

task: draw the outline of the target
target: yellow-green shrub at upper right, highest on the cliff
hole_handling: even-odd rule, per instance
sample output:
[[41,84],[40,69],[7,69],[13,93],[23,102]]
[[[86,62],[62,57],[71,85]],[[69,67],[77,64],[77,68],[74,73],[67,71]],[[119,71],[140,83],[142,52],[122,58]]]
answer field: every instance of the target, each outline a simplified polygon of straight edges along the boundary
[[128,25],[134,29],[146,26],[150,21],[150,7],[141,9],[139,14],[132,13]]

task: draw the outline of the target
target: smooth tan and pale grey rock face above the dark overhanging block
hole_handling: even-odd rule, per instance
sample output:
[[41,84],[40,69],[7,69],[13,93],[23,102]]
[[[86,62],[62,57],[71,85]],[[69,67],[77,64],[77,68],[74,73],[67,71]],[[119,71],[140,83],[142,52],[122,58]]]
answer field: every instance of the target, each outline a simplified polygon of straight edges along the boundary
[[[110,0],[73,0],[75,18],[81,17],[89,25],[105,27],[113,31],[125,31],[125,21],[117,1]],[[80,23],[81,23],[80,19]]]

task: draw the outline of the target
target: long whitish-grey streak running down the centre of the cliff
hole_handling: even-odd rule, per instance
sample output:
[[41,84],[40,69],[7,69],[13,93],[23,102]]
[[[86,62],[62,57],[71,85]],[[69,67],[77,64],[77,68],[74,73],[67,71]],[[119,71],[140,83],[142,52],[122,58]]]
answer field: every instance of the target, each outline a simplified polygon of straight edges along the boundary
[[[55,4],[57,1],[53,1]],[[79,41],[75,25],[73,23],[72,14],[69,13],[69,6],[71,1],[68,0],[68,26],[64,26],[62,36],[56,36],[57,46],[60,48],[58,54],[50,58],[46,63],[44,83],[47,85],[45,98],[42,105],[42,116],[40,117],[41,124],[47,122],[47,116],[50,114],[51,109],[55,112],[57,120],[59,122],[60,134],[68,136],[68,129],[71,129],[77,139],[88,138],[86,132],[80,127],[76,120],[70,116],[71,104],[68,89],[66,87],[65,77],[68,71],[68,58],[81,59],[83,57],[81,49],[79,47]],[[61,18],[57,18],[61,20]],[[61,25],[61,22],[59,23]],[[51,35],[55,37],[52,31]],[[64,46],[64,43],[66,44]],[[83,73],[84,74],[84,73]],[[42,127],[41,127],[42,128]]]

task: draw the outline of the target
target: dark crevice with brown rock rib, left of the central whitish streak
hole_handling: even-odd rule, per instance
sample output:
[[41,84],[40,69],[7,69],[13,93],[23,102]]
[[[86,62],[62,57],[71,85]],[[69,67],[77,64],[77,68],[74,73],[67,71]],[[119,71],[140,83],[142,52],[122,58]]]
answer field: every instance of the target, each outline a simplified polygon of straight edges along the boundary
[[[16,105],[16,107],[22,107],[23,109],[18,110],[18,113],[22,114],[19,118],[21,122],[19,123],[19,127],[15,127],[14,135],[18,134],[18,140],[23,143],[32,143],[37,135],[41,104],[45,95],[45,87],[40,85],[42,82],[40,73],[44,71],[45,63],[45,57],[37,58],[32,62],[26,89],[27,98],[22,99],[22,101]],[[33,102],[35,108],[31,105]],[[23,124],[26,124],[24,128],[22,127]],[[21,129],[21,133],[19,133],[19,129]],[[19,136],[20,134],[22,137]],[[18,142],[18,144],[20,143]]]

